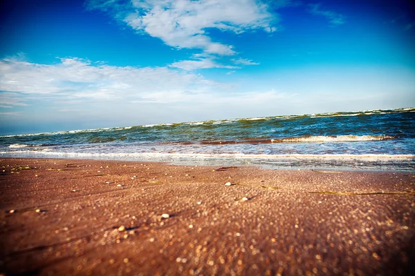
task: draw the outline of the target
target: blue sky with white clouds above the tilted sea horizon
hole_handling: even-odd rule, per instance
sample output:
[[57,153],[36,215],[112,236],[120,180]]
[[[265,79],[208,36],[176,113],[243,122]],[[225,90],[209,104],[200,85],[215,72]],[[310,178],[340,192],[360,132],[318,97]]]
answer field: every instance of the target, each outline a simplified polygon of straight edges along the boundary
[[414,107],[412,2],[0,1],[0,135]]

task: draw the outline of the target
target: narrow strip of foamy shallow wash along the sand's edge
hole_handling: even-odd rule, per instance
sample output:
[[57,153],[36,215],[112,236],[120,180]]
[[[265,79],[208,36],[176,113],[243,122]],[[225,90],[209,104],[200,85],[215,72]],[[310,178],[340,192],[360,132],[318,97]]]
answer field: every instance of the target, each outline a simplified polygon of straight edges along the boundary
[[[40,153],[40,155],[39,155]],[[31,155],[31,156],[30,156]],[[39,155],[39,156],[36,156]],[[415,172],[415,155],[243,155],[243,154],[183,154],[183,153],[122,153],[90,154],[67,152],[26,152],[14,155],[0,154],[0,159],[82,159],[102,161],[162,162],[175,166],[252,166],[269,170],[330,169],[346,171]]]

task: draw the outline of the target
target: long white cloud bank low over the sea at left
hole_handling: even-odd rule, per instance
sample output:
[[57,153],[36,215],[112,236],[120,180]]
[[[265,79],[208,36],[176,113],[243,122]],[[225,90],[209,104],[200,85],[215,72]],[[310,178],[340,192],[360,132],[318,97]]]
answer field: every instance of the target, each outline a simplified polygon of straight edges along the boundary
[[[95,65],[68,58],[52,65],[3,59],[0,90],[3,106],[24,106],[30,95],[62,101],[141,99],[164,91],[203,93],[225,86],[201,75],[169,68]],[[20,94],[18,97],[17,92]],[[25,96],[26,95],[26,96]]]

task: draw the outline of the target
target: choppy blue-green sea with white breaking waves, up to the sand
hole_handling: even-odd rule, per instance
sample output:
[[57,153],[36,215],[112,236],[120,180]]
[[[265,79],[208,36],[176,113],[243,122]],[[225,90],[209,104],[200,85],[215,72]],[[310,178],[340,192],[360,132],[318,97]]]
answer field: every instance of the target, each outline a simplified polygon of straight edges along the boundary
[[0,157],[414,171],[415,108],[7,135]]

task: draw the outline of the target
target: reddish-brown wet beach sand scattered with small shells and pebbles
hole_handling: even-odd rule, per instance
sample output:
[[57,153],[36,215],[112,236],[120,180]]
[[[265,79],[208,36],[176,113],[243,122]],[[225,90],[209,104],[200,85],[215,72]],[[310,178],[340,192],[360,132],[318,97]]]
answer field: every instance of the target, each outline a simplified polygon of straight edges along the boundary
[[0,166],[3,275],[415,275],[414,172]]

